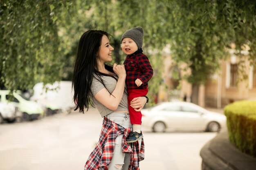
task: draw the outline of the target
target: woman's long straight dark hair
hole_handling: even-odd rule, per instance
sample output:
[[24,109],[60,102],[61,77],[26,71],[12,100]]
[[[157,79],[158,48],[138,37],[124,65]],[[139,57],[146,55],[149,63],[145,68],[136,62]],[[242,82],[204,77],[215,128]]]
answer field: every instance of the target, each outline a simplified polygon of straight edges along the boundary
[[[105,86],[100,75],[111,76],[98,71],[97,58],[99,57],[99,48],[103,35],[108,38],[110,34],[101,30],[88,30],[81,36],[79,40],[76,61],[74,65],[74,75],[72,80],[72,88],[74,89],[73,100],[76,104],[74,110],[79,108],[79,112],[84,113],[84,108],[91,104],[90,95],[92,95],[90,86],[92,78],[98,75],[97,79]],[[113,72],[113,67],[105,64],[108,71]],[[116,79],[116,78],[115,78]],[[117,80],[117,79],[116,79]]]

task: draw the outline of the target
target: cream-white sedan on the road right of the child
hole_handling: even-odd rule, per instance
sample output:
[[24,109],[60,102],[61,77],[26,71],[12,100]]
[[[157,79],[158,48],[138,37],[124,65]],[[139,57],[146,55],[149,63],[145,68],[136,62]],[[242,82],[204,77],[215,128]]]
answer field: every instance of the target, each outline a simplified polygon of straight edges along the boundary
[[226,126],[226,116],[189,102],[164,102],[142,109],[142,128],[153,132],[209,131]]

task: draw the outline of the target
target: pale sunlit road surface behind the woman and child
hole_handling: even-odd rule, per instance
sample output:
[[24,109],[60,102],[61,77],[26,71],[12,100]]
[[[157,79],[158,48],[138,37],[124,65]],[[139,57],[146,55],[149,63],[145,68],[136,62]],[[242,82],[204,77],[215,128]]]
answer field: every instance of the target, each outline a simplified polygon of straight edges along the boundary
[[[83,170],[101,131],[102,118],[60,113],[31,122],[0,125],[0,170]],[[211,132],[144,132],[141,170],[201,170],[200,149]]]

